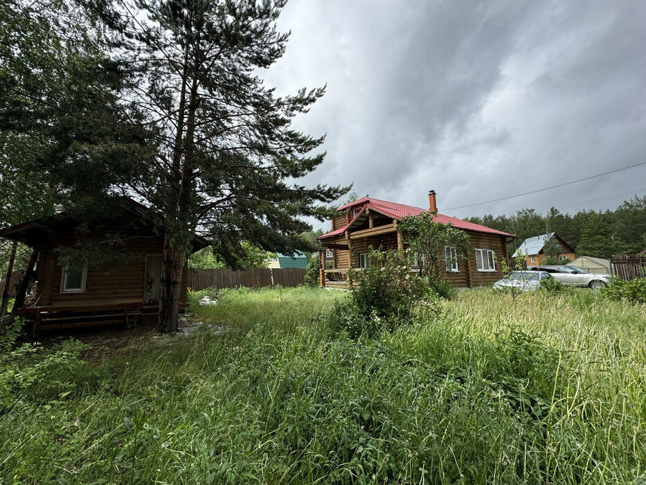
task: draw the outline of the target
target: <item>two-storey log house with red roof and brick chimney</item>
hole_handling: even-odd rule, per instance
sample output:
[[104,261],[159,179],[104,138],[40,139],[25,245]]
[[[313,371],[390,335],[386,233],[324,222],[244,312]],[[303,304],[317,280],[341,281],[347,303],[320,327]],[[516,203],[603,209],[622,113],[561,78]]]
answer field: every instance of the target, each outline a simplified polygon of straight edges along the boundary
[[[434,220],[451,224],[469,234],[474,248],[468,259],[458,258],[457,263],[448,263],[442,279],[456,288],[472,288],[489,285],[502,278],[496,258],[507,257],[507,243],[516,236],[490,227],[474,224],[449,215],[438,213],[435,191],[429,192],[429,209],[397,204],[373,197],[361,197],[337,209],[332,218],[332,231],[318,237],[321,255],[332,251],[332,269],[319,263],[319,283],[325,288],[347,288],[348,270],[362,270],[368,265],[370,248],[406,249],[402,229],[397,224],[407,215],[419,215],[430,211],[436,213]],[[447,251],[451,251],[447,248]],[[411,267],[414,270],[414,267]]]

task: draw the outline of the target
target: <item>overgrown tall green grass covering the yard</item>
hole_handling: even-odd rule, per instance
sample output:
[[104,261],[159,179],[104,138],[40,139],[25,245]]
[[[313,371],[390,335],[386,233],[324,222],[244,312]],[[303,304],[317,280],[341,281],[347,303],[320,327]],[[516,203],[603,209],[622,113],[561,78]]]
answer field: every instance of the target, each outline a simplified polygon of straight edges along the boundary
[[[193,295],[196,301],[198,295]],[[37,483],[646,481],[646,308],[462,292],[355,342],[341,292],[226,292],[195,319],[20,394],[0,477]],[[91,355],[89,355],[91,358]]]

